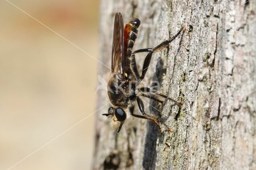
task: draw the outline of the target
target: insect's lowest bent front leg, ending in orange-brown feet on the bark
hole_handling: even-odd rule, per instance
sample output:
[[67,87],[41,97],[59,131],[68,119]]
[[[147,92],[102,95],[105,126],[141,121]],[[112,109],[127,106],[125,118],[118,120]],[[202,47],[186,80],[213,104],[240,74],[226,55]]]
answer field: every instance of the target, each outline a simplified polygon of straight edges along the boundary
[[169,128],[159,117],[145,113],[144,104],[140,98],[137,98],[137,104],[139,106],[139,109],[140,109],[140,112],[142,113],[142,115],[144,115],[146,119],[153,121],[158,126],[161,133],[163,131],[158,122],[162,123],[166,127],[166,129],[168,129],[168,133],[172,132],[172,129]]

